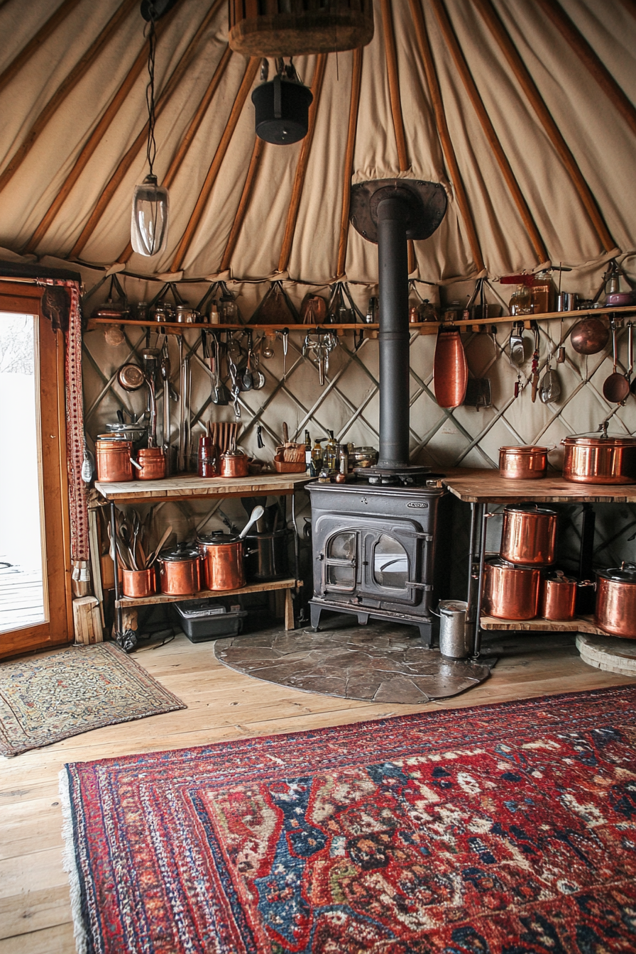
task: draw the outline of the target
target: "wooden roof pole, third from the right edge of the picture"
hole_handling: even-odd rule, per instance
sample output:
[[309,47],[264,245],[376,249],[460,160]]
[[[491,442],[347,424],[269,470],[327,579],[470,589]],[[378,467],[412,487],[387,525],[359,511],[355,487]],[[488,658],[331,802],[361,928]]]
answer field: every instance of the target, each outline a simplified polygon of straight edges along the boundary
[[486,113],[485,106],[483,105],[482,96],[475,85],[475,80],[473,79],[470,70],[468,69],[468,64],[463,56],[460,44],[458,43],[457,36],[455,31],[450,24],[448,19],[448,14],[444,9],[441,0],[427,0],[429,5],[435,11],[435,15],[438,18],[440,24],[440,29],[444,40],[446,41],[446,46],[453,57],[453,61],[457,68],[458,73],[462,77],[462,82],[466,93],[468,93],[468,98],[470,99],[473,109],[477,114],[481,124],[483,133],[488,141],[488,145],[493,151],[499,168],[502,172],[503,179],[505,184],[508,187],[508,191],[517,206],[517,211],[522,218],[523,225],[525,230],[532,242],[532,246],[535,250],[535,255],[537,256],[537,261],[542,262],[548,259],[548,254],[545,249],[544,239],[542,239],[539,229],[532,218],[532,213],[528,208],[528,204],[523,197],[522,190],[519,187],[519,183],[515,178],[515,174],[512,171],[510,163],[508,162],[507,156],[503,152],[503,147],[497,133],[495,132],[495,127],[490,121],[490,116]]

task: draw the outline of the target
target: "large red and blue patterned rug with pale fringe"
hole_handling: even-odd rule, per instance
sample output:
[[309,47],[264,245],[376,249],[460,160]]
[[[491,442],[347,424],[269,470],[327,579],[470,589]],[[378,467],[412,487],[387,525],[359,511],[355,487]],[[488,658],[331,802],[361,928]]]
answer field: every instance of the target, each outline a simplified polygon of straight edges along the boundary
[[78,949],[636,951],[636,687],[77,762]]

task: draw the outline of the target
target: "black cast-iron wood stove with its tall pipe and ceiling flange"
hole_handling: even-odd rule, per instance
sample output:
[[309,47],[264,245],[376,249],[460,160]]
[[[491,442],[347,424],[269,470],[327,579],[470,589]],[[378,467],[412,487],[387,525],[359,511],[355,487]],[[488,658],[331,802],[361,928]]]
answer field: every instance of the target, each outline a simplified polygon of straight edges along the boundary
[[323,611],[420,628],[430,646],[438,501],[426,467],[409,462],[407,239],[427,239],[446,211],[437,182],[380,179],[352,188],[351,221],[378,243],[380,459],[355,484],[310,484],[314,554],[311,623]]

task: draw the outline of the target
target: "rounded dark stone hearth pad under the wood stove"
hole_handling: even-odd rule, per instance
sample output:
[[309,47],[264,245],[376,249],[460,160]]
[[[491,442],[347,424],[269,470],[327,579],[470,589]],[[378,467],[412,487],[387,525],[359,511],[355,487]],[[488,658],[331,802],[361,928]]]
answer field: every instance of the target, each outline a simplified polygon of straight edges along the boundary
[[277,629],[217,639],[215,655],[230,669],[290,689],[405,705],[459,695],[488,678],[494,659],[445,659],[404,629],[387,623],[318,633]]

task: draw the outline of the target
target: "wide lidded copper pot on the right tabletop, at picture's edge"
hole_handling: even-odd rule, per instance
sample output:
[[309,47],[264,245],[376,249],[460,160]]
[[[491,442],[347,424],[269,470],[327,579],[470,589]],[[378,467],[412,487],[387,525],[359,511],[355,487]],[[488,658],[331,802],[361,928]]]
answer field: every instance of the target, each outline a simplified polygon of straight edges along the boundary
[[566,437],[564,478],[577,484],[636,484],[636,437]]

